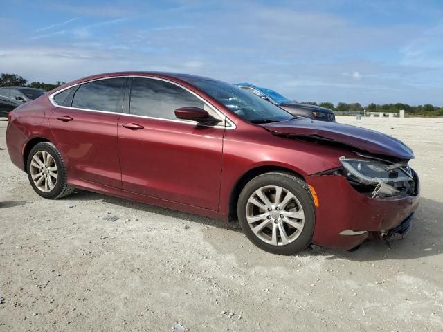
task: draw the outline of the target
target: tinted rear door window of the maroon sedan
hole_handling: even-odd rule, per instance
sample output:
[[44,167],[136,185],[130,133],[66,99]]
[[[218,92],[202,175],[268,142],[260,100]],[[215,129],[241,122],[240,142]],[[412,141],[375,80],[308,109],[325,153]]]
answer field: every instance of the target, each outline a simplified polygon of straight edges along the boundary
[[118,77],[82,84],[75,91],[72,107],[121,113],[123,84],[126,80],[126,77]]

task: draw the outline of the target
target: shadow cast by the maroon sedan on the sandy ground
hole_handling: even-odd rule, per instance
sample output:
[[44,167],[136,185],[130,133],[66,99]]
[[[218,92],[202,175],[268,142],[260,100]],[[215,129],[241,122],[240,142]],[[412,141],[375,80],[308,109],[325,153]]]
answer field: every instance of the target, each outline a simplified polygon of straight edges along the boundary
[[[133,208],[163,216],[181,219],[183,221],[194,221],[203,225],[222,228],[234,232],[242,232],[237,221],[226,224],[223,221],[189,214],[177,210],[160,208],[154,205],[129,201],[113,196],[106,196],[94,192],[78,191],[71,196],[64,198],[66,201],[87,200],[102,201],[111,205],[119,205],[124,208]],[[321,247],[309,247],[298,256],[322,256],[325,259],[346,259],[351,261],[377,261],[387,259],[417,259],[443,253],[443,223],[440,223],[440,211],[443,210],[443,203],[431,199],[422,198],[418,210],[414,214],[413,228],[408,237],[401,241],[365,241],[359,250],[349,252],[344,250],[334,250]]]

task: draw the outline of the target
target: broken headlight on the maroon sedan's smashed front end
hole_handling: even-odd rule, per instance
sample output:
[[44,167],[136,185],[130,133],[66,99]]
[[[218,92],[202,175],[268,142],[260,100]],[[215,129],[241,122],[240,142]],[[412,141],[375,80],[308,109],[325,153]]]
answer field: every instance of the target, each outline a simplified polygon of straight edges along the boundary
[[413,188],[413,174],[404,163],[384,163],[381,160],[361,160],[341,157],[343,175],[359,192],[372,198],[408,194]]

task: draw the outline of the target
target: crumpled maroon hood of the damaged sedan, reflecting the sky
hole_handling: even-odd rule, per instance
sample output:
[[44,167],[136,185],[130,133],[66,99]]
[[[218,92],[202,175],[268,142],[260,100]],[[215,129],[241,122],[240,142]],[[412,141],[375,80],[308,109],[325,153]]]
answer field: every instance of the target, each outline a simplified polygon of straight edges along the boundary
[[276,135],[311,137],[348,145],[370,154],[392,156],[401,160],[413,159],[414,153],[397,138],[361,127],[336,122],[315,121],[306,118],[260,124]]

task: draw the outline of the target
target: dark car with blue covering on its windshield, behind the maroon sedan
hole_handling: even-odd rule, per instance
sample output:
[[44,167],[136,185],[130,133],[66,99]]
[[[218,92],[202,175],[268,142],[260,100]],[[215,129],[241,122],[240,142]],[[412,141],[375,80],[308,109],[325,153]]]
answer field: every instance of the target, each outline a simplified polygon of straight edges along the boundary
[[251,83],[237,83],[234,85],[239,86],[246,91],[254,93],[259,97],[280,106],[282,109],[288,111],[293,116],[302,116],[304,118],[310,118],[312,120],[319,121],[336,122],[334,111],[332,111],[331,109],[326,109],[325,107],[311,104],[300,104],[298,102],[294,102],[293,100],[289,100],[288,98],[280,95],[280,93],[277,93],[271,89],[255,86]]

